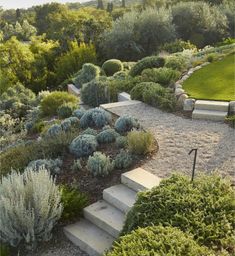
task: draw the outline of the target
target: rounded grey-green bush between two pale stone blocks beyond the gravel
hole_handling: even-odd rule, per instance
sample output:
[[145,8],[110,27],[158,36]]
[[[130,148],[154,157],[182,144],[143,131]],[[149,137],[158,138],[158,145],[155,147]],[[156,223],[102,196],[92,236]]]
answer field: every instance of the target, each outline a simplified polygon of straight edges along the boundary
[[81,99],[84,104],[97,107],[109,102],[109,81],[106,78],[94,79],[82,86]]

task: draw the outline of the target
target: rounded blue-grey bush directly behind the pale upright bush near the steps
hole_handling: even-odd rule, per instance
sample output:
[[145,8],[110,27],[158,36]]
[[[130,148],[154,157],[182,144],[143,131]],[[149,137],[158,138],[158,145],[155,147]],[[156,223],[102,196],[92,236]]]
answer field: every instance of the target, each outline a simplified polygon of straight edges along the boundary
[[69,150],[77,157],[89,156],[96,151],[96,137],[89,134],[79,135],[69,146]]

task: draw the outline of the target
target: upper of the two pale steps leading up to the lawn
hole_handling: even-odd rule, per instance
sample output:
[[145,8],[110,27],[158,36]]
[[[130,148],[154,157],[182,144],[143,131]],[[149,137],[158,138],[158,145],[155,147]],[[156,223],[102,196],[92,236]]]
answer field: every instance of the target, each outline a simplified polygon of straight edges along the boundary
[[226,101],[212,101],[212,100],[196,100],[195,109],[213,110],[228,112],[229,102]]

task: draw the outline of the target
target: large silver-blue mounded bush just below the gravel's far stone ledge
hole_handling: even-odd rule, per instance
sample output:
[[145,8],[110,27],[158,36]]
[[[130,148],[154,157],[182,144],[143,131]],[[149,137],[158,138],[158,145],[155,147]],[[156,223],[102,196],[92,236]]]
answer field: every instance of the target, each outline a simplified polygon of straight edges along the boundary
[[80,119],[80,125],[82,128],[97,127],[102,128],[109,124],[112,120],[111,115],[101,108],[94,108],[86,111],[86,113]]

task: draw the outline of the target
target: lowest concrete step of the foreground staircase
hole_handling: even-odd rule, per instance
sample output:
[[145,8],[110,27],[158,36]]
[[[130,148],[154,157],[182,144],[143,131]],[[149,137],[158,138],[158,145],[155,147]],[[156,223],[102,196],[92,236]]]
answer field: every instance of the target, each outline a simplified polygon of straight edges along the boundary
[[66,226],[64,233],[70,241],[90,256],[103,255],[114,241],[114,237],[85,219]]

